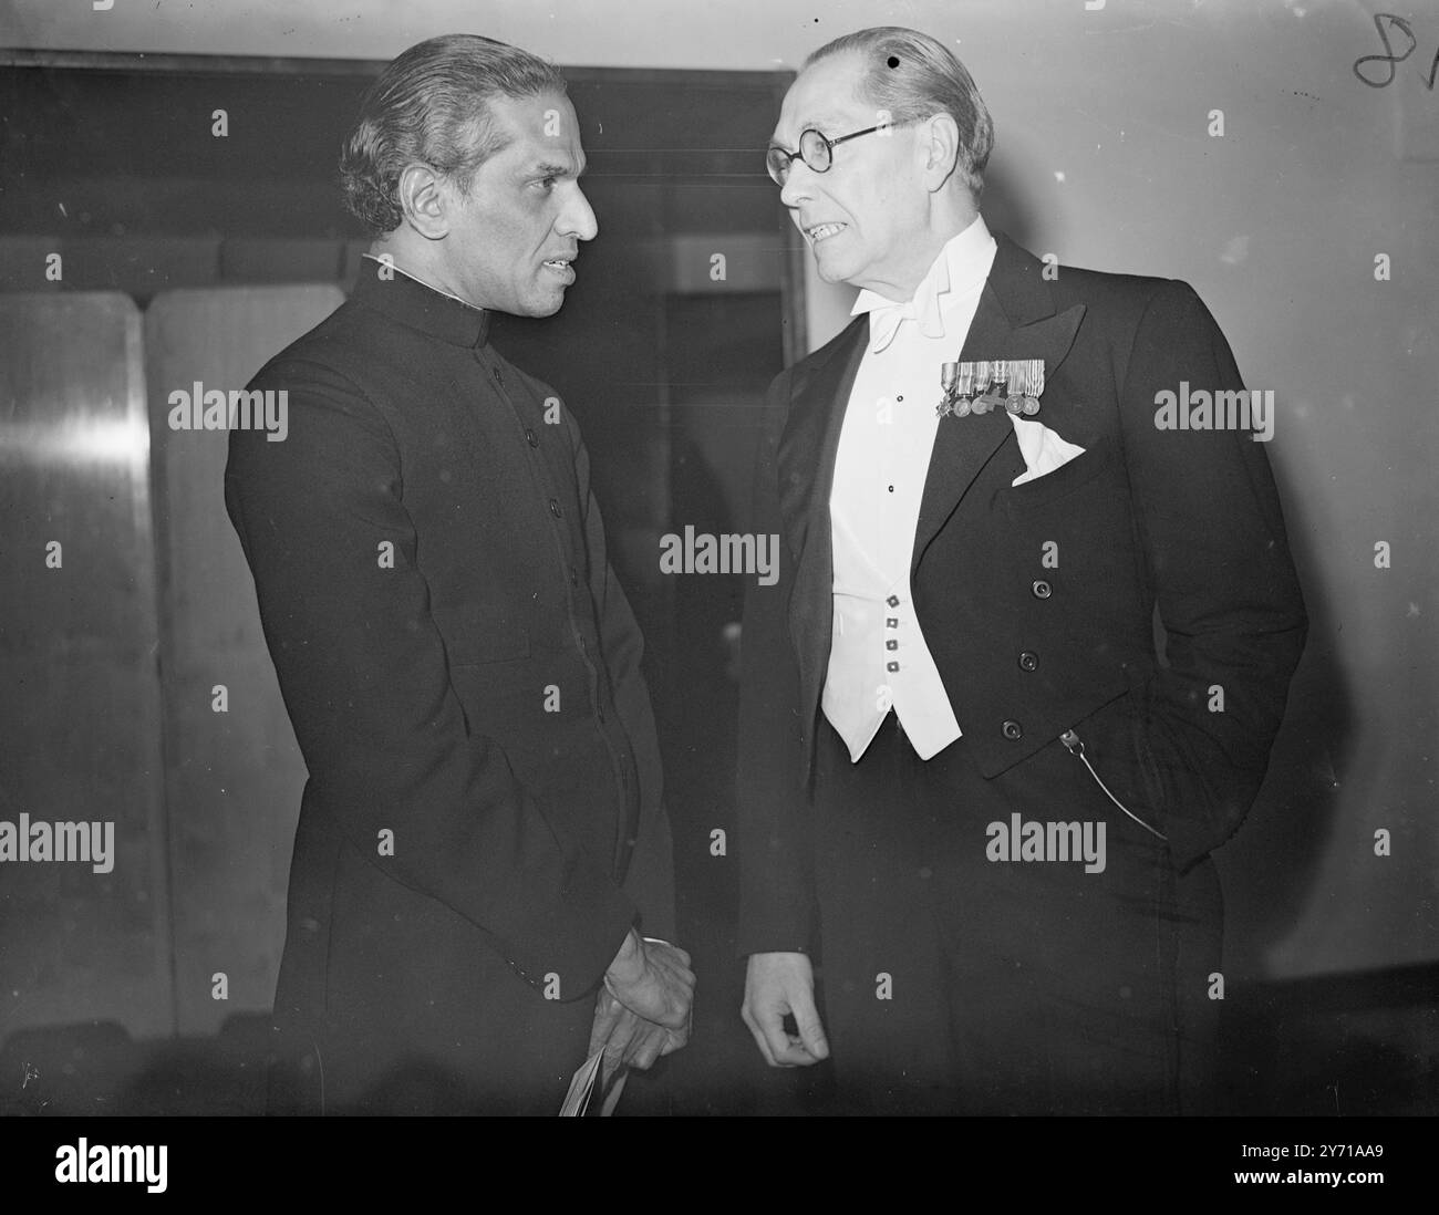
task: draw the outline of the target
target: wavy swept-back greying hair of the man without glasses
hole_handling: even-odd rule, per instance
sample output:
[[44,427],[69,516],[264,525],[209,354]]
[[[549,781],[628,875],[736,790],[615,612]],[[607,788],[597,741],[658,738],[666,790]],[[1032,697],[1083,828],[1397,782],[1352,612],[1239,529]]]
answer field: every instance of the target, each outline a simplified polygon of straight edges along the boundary
[[566,92],[564,76],[518,46],[468,33],[412,46],[360,102],[340,154],[345,207],[370,231],[393,231],[404,219],[400,174],[416,162],[468,194],[475,170],[507,145],[491,121],[491,99],[550,92]]

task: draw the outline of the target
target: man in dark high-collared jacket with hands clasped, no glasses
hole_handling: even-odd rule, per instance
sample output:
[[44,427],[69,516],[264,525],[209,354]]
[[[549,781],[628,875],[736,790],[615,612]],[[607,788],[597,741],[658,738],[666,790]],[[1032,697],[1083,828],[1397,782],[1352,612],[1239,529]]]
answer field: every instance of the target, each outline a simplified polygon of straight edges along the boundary
[[285,441],[232,434],[309,769],[272,1110],[553,1114],[594,1050],[619,1076],[689,1032],[640,633],[574,418],[486,339],[564,302],[583,170],[550,65],[400,55],[341,158],[371,256],[250,384],[288,391]]

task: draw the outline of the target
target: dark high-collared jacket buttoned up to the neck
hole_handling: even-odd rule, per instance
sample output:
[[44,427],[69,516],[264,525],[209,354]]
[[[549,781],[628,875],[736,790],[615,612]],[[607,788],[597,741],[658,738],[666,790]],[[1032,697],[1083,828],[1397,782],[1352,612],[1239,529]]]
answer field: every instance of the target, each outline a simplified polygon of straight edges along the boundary
[[568,407],[367,267],[250,384],[285,440],[236,430],[226,469],[309,771],[276,1021],[331,1097],[409,1070],[557,1109],[626,930],[672,937],[643,644]]

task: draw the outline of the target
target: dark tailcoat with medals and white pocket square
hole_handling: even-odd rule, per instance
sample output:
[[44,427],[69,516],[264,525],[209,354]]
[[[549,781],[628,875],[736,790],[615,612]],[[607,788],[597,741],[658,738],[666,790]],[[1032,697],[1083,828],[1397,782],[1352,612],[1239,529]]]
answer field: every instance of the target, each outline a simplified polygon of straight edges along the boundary
[[[1160,394],[1181,384],[1245,387],[1191,288],[1069,267],[1046,278],[1030,253],[1004,236],[997,243],[954,357],[1043,359],[1035,420],[1085,450],[1013,486],[1025,462],[1004,410],[940,423],[909,578],[963,730],[954,745],[970,749],[1013,811],[1050,818],[1063,805],[1053,774],[1078,764],[1061,743],[1073,730],[1105,784],[1167,835],[1170,861],[1186,873],[1253,802],[1304,646],[1265,444],[1250,431],[1156,423]],[[814,936],[829,499],[866,335],[868,319],[856,318],[768,393],[754,528],[778,532],[784,549],[776,584],[751,584],[745,602],[741,953],[804,949]]]

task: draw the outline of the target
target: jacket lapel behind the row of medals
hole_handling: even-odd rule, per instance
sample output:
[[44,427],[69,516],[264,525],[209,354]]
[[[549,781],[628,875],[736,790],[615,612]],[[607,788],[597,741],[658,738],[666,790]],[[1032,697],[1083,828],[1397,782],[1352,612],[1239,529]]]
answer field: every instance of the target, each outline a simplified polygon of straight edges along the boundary
[[[1069,354],[1085,308],[1076,303],[1055,313],[1042,276],[1043,263],[1003,233],[996,233],[994,239],[999,244],[994,265],[984,282],[980,306],[958,361],[1042,358],[1045,377],[1049,380]],[[940,387],[935,384],[935,400],[938,395]],[[1043,410],[1038,420],[1043,421]],[[920,500],[920,522],[909,562],[911,581],[930,542],[948,522],[974,479],[1006,443],[1014,443],[1014,426],[1004,410],[940,420]]]

